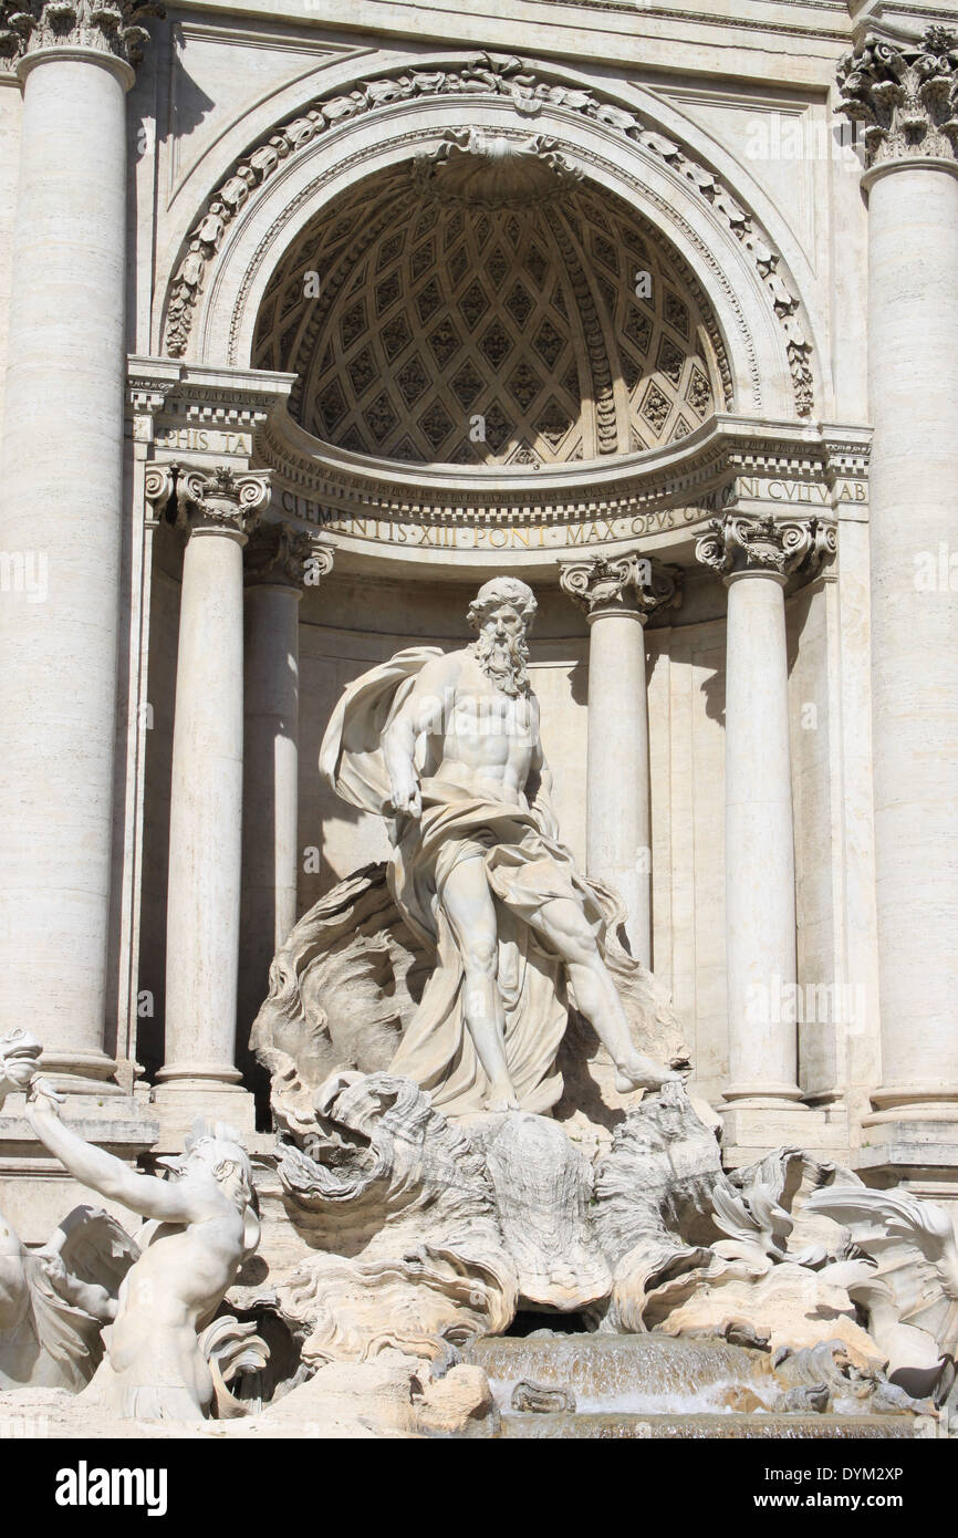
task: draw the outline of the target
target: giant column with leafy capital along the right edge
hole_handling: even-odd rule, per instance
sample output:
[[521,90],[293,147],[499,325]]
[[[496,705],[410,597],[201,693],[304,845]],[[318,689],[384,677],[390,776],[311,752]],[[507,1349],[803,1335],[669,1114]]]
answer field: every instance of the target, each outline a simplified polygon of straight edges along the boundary
[[864,125],[869,198],[883,1057],[872,1121],[886,1124],[869,1141],[944,1140],[956,1146],[955,1161],[958,606],[949,574],[958,564],[958,37],[944,28],[909,45],[867,37],[843,60],[838,85],[841,111]]

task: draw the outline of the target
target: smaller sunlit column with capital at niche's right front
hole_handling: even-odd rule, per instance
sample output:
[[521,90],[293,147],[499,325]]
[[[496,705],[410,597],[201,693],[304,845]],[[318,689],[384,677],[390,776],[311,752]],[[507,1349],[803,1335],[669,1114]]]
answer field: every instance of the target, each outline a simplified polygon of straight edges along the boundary
[[[784,586],[830,549],[815,520],[714,518],[695,546],[729,592],[726,967],[730,1141],[773,1144],[769,1112],[806,1110],[795,1018],[795,834]],[[786,1007],[783,1007],[783,1003]],[[753,1126],[752,1126],[753,1124]]]

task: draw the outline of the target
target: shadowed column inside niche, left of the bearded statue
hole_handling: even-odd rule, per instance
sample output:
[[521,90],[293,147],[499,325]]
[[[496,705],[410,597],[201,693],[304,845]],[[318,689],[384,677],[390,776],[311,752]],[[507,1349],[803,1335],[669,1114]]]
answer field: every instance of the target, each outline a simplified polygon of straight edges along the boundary
[[244,552],[243,1038],[266,998],[269,963],[295,924],[298,872],[300,598],[332,571],[332,551],[284,523]]

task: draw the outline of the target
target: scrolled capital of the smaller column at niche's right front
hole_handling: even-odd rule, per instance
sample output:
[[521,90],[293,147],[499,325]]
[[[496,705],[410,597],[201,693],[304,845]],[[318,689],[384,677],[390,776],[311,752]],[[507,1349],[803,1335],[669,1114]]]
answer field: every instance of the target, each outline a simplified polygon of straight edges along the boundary
[[695,558],[726,581],[775,577],[784,584],[800,568],[810,577],[837,549],[833,524],[820,518],[777,520],[727,512],[709,520],[709,532],[695,543]]

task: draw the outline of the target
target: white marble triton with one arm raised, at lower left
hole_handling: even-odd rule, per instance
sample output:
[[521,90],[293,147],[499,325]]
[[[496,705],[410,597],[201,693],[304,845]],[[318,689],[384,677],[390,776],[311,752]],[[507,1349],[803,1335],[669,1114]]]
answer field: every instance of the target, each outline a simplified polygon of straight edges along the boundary
[[[143,1175],[63,1123],[62,1100],[32,1077],[26,1118],[35,1137],[85,1186],[148,1220],[83,1403],[120,1418],[198,1420],[225,1390],[229,1364],[249,1357],[248,1327],[217,1318],[258,1243],[249,1157],[231,1127],[200,1123],[185,1154],[161,1161],[175,1178]],[[252,1355],[261,1352],[254,1346]]]

